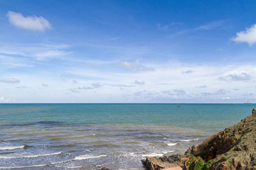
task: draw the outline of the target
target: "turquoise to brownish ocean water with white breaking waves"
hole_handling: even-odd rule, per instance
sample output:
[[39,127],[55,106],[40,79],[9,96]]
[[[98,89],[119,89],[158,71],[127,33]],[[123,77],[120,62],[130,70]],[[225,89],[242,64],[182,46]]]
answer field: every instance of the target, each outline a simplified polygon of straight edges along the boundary
[[146,156],[184,153],[255,107],[0,104],[0,169],[142,169]]

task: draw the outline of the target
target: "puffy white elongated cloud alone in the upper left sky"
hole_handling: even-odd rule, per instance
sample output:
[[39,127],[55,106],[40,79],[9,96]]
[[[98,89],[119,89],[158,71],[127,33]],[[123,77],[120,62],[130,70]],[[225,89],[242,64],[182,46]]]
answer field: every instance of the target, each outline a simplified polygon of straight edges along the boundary
[[46,29],[51,29],[50,22],[44,17],[24,17],[21,13],[15,13],[13,11],[8,11],[7,17],[11,24],[22,29],[33,31],[45,31]]

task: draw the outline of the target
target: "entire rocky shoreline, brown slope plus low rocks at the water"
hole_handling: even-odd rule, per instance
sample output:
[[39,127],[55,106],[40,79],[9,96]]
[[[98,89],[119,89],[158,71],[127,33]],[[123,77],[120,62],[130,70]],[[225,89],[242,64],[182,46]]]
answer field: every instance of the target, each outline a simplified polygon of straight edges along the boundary
[[193,145],[184,155],[141,161],[148,170],[256,170],[256,109],[238,124]]

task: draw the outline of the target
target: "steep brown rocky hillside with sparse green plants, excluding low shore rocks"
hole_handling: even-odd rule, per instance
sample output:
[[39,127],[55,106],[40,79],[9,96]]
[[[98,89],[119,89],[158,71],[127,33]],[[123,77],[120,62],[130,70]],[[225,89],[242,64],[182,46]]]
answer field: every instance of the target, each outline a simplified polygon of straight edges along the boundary
[[[198,157],[204,164],[212,159],[209,169],[255,169],[256,170],[256,109],[252,115],[238,124],[226,128],[198,146],[192,146],[185,153],[186,169],[195,170]],[[188,166],[189,165],[189,166]]]

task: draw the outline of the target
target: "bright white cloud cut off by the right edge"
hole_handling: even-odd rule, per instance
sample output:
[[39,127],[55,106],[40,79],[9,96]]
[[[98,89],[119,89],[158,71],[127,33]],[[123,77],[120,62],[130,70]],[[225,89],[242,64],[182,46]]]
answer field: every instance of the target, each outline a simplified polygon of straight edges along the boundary
[[253,45],[256,43],[256,24],[250,28],[246,28],[246,31],[236,32],[236,37],[232,38],[237,43],[248,43]]

